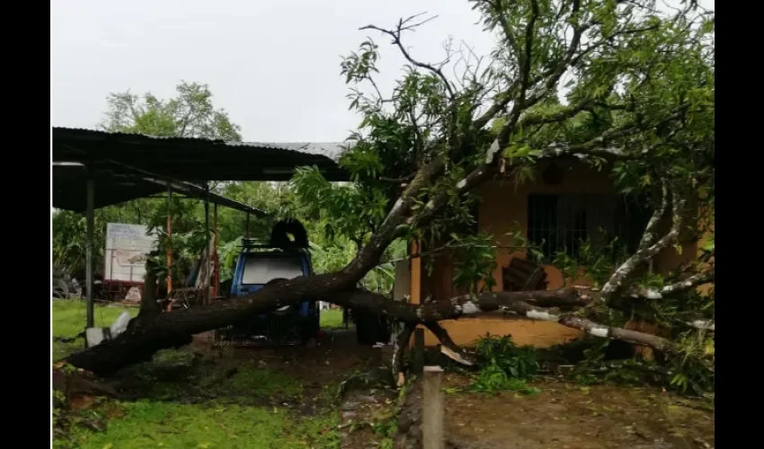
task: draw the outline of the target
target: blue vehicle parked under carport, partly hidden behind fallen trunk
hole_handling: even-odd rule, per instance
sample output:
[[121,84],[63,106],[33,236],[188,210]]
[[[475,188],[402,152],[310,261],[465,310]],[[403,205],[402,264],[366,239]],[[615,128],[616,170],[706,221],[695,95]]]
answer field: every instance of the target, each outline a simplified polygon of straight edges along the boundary
[[[310,252],[306,248],[271,248],[244,239],[236,260],[231,298],[253,294],[263,286],[280,280],[312,276]],[[315,341],[319,330],[315,301],[284,306],[222,331],[224,339],[247,339],[277,344]]]

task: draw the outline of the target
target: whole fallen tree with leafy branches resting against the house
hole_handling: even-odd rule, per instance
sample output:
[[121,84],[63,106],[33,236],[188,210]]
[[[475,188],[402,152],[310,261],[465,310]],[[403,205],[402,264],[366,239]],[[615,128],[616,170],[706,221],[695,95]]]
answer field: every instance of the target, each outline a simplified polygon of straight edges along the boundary
[[[691,216],[688,199],[698,190],[706,195],[713,217],[714,73],[713,41],[708,41],[709,36],[713,40],[713,14],[688,4],[661,15],[654,12],[654,2],[472,3],[498,40],[487,67],[471,59],[469,48],[448,48],[446,61],[438,64],[417,60],[403,36],[427,22],[418,16],[392,29],[363,28],[390,38],[407,61],[392,95],[383,96],[374,81],[379,50],[372,40],[342,63],[342,73],[353,84],[351,107],[364,117],[342,158],[355,183],[331,187],[318,172],[304,170],[294,185],[315,214],[344,217],[334,223],[334,232],[359,243],[347,266],[269,285],[237,301],[173,313],[142,307],[118,338],[73,354],[67,362],[109,374],[159,349],[187,344],[193,334],[305,299],[385,313],[404,323],[395,369],[401,366],[402,343],[417,324],[432,330],[451,357],[470,363],[438,321],[494,311],[556,321],[592,336],[661,351],[680,350],[671,339],[613,327],[596,317],[602,307],[655,304],[713,280],[713,268],[694,267],[689,277],[659,287],[639,281],[649,260],[680,243]],[[466,67],[457,79],[444,71],[453,57]],[[557,92],[565,78],[571,81],[563,103]],[[372,93],[361,92],[360,85]],[[357,289],[391,242],[442,241],[459,225],[474,221],[469,205],[475,188],[489,180],[522,182],[540,161],[562,156],[616,172],[654,204],[637,250],[600,291],[475,289],[414,305]],[[490,273],[475,276],[487,279]],[[698,310],[683,322],[711,329],[706,315]]]

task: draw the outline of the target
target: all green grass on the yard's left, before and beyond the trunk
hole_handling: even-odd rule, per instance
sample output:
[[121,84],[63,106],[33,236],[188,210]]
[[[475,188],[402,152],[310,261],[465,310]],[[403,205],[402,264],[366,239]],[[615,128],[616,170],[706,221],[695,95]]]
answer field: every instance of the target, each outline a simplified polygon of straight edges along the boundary
[[[110,325],[124,310],[138,313],[137,308],[97,306],[95,325]],[[83,301],[54,301],[52,314],[54,336],[74,337],[84,329]],[[341,325],[342,312],[323,313],[322,327],[327,319],[329,326]],[[82,339],[54,342],[54,360],[82,347]],[[61,415],[75,423],[97,419],[106,423],[106,430],[64,427],[67,436],[58,436],[54,447],[339,447],[339,415],[331,398],[307,392],[289,371],[266,367],[256,356],[199,359],[190,348],[164,350],[154,362],[131,366],[120,375],[138,379],[132,400],[102,399]],[[306,404],[315,404],[313,411],[303,410]]]

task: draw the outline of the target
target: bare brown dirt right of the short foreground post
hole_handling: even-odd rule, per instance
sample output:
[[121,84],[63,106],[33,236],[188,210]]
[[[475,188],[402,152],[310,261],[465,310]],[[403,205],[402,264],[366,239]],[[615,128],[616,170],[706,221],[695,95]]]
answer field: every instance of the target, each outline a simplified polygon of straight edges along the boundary
[[[464,387],[449,375],[446,388]],[[541,392],[448,394],[446,426],[478,448],[714,447],[714,413],[705,404],[653,388],[534,382]]]

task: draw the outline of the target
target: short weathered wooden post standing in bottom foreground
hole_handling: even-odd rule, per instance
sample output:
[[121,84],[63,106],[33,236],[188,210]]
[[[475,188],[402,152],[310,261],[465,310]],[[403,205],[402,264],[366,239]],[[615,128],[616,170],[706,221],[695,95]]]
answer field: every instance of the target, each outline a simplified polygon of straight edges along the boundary
[[443,368],[425,366],[422,378],[422,448],[444,449],[443,438]]

